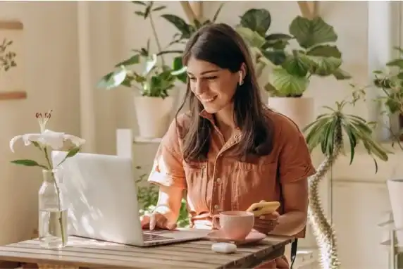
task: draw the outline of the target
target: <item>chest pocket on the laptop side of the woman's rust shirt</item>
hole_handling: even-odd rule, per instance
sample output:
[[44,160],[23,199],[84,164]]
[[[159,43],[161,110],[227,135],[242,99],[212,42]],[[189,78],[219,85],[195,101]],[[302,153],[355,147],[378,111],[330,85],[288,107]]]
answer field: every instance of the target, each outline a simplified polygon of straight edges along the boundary
[[184,162],[183,168],[187,183],[187,196],[191,199],[194,208],[206,207],[208,162]]

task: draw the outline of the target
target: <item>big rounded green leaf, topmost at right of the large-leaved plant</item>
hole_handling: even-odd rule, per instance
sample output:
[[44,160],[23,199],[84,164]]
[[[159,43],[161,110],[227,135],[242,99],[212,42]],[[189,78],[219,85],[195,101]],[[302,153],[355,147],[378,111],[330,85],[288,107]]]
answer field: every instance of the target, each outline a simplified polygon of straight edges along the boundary
[[290,24],[290,34],[293,35],[304,49],[318,44],[335,42],[337,35],[333,26],[328,25],[321,17],[313,20],[297,16]]

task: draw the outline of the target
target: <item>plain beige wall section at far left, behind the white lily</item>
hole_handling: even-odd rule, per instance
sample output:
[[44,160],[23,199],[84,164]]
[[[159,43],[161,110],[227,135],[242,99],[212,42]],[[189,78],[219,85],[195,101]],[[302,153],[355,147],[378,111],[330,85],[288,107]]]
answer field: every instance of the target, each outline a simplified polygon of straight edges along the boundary
[[24,149],[16,154],[8,141],[17,134],[39,132],[35,113],[54,110],[49,127],[80,134],[74,2],[0,2],[0,19],[24,24],[25,91],[28,98],[0,102],[0,244],[26,239],[37,227],[37,191],[41,171],[17,167],[13,158],[37,158]]

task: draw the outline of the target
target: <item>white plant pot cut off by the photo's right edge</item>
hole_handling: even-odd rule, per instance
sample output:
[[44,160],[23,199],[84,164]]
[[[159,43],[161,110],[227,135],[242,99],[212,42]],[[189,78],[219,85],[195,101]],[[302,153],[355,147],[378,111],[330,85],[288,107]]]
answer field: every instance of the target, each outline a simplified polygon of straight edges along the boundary
[[386,184],[393,220],[398,230],[397,243],[399,246],[403,246],[403,178],[387,180]]

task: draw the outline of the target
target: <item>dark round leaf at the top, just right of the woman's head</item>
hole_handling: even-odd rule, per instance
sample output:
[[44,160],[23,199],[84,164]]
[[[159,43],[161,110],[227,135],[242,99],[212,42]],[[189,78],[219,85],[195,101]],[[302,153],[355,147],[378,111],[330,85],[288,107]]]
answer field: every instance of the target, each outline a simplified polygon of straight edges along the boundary
[[270,12],[263,8],[251,8],[241,16],[240,25],[264,37],[271,25]]

